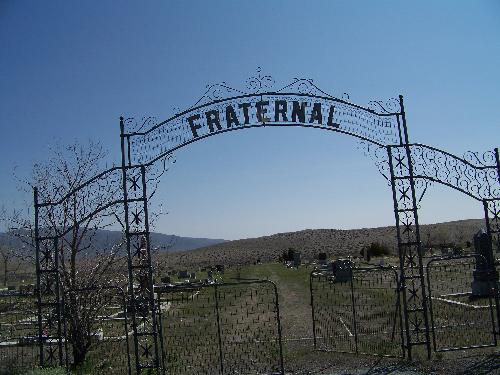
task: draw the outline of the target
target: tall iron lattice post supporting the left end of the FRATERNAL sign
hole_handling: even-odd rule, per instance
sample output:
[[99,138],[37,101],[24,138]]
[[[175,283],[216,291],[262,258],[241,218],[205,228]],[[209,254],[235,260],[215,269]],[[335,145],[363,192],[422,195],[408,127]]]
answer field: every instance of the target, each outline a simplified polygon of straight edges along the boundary
[[[122,190],[129,276],[129,310],[132,315],[134,333],[135,367],[137,373],[141,373],[143,369],[160,369],[158,360],[158,329],[149,241],[146,171],[144,165],[140,165],[139,168],[131,166],[130,147],[128,147],[127,152],[128,162],[126,161],[126,137],[124,119],[120,117]],[[135,208],[134,211],[130,210],[130,205],[133,205]],[[132,220],[130,220],[130,213],[133,215]],[[134,248],[133,253],[131,247]]]

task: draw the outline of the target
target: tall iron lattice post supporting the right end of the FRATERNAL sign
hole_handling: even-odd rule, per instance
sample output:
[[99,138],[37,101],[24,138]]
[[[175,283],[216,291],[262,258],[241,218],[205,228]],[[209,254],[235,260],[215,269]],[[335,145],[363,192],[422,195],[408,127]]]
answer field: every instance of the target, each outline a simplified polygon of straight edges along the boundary
[[401,112],[397,119],[398,125],[402,122],[404,142],[387,146],[387,152],[399,250],[405,347],[411,360],[414,346],[425,345],[428,358],[431,346],[415,178],[402,95],[399,96],[399,104]]

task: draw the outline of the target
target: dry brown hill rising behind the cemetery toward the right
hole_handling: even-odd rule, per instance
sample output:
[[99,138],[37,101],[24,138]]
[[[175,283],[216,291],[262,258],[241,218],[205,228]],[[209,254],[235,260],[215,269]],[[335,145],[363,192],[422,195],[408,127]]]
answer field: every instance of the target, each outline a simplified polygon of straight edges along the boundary
[[[421,225],[423,244],[456,243],[465,246],[473,235],[484,227],[484,220],[470,219]],[[257,260],[275,261],[283,250],[292,247],[302,252],[305,259],[316,259],[325,252],[328,256],[359,255],[372,242],[386,244],[396,254],[396,228],[364,229],[306,229],[298,232],[277,233],[271,236],[227,241],[189,253],[168,255],[168,267],[196,267],[215,264],[244,265]]]

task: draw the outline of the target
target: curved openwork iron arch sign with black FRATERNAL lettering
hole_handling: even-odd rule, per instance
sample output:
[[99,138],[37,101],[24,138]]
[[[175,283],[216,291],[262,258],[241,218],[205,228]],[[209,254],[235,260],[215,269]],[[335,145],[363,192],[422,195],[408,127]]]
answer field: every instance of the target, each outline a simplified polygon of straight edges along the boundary
[[[194,106],[168,120],[147,118],[139,130],[125,134],[131,163],[150,163],[217,133],[263,126],[322,128],[381,146],[401,142],[401,109],[397,100],[371,102],[365,108],[347,98],[326,94],[311,80],[296,79],[277,91],[262,92],[268,89],[264,80],[260,77],[260,86],[253,85],[258,90],[250,93],[226,84],[212,85]],[[129,119],[127,128],[133,123]]]

